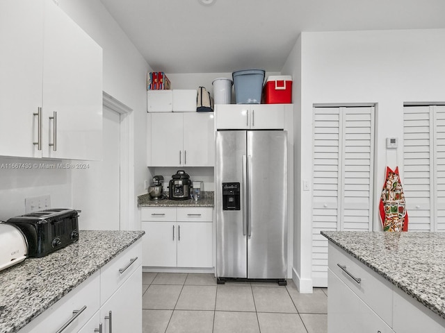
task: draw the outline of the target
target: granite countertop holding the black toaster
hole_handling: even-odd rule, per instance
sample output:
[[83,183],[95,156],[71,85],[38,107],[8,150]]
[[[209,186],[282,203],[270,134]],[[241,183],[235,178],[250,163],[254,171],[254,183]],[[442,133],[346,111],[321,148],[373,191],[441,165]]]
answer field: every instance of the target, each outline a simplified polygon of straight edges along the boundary
[[0,271],[0,332],[17,332],[144,233],[81,230],[76,243]]

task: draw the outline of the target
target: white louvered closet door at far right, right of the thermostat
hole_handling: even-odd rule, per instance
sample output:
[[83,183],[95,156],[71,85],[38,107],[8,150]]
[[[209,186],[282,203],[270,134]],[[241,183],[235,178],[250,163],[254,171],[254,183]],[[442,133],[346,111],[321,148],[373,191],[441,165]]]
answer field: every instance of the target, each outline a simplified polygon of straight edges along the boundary
[[408,230],[445,231],[445,106],[405,106],[403,131]]

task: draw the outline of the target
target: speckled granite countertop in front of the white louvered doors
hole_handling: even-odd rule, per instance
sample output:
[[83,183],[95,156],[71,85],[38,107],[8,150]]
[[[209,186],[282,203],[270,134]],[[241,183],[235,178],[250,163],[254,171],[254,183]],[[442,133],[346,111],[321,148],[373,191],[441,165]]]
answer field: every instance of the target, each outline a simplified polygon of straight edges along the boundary
[[445,232],[321,232],[445,318]]

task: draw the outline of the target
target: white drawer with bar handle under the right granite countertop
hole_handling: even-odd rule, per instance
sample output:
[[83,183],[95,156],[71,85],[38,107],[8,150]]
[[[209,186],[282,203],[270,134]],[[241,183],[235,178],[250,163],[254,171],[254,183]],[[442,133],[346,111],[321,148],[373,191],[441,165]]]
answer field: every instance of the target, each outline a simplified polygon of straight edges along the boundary
[[[332,243],[329,243],[328,257],[332,273],[337,275],[386,323],[392,325],[392,284]],[[361,279],[360,282],[356,282],[339,265],[353,277]]]

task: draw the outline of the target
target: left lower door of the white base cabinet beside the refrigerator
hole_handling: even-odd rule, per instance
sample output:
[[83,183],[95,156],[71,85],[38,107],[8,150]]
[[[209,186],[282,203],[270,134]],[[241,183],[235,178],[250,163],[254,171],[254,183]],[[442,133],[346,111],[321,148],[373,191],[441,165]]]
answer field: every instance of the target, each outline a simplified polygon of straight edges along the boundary
[[142,222],[143,266],[176,267],[176,222]]

